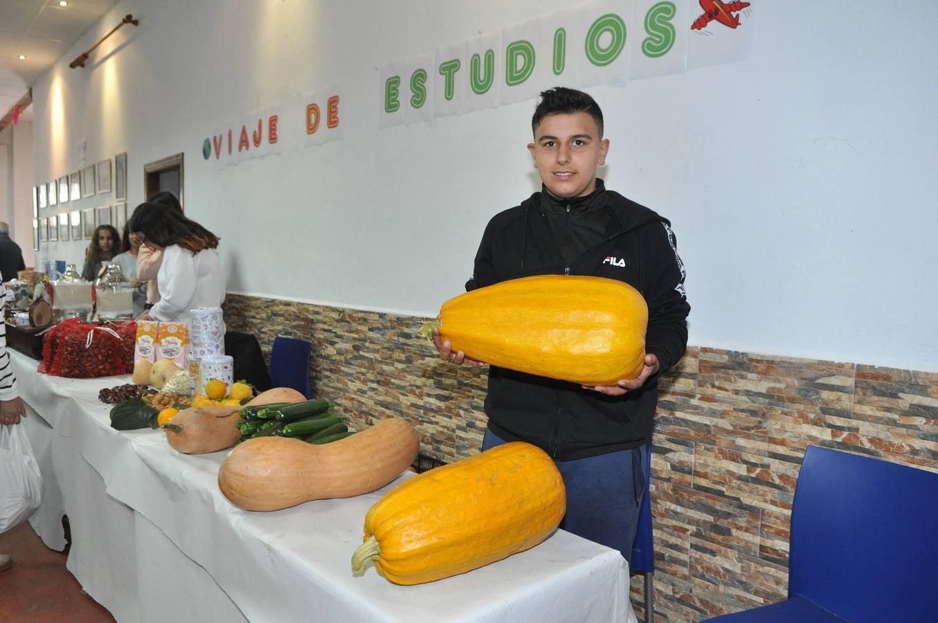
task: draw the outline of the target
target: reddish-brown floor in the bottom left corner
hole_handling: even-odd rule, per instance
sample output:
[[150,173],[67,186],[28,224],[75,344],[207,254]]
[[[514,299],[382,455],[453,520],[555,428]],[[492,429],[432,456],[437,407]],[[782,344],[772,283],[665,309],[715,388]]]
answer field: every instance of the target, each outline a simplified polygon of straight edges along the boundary
[[53,552],[28,522],[0,535],[0,553],[13,567],[0,571],[0,621],[4,623],[103,623],[113,616],[83,594],[65,568],[66,555]]

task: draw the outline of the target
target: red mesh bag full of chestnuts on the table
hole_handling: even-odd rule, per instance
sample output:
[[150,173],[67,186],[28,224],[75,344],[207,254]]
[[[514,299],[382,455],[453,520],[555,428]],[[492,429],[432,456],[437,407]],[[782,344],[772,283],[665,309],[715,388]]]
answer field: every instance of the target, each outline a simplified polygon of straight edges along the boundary
[[39,372],[71,378],[128,374],[133,371],[136,323],[88,325],[64,320],[45,335]]

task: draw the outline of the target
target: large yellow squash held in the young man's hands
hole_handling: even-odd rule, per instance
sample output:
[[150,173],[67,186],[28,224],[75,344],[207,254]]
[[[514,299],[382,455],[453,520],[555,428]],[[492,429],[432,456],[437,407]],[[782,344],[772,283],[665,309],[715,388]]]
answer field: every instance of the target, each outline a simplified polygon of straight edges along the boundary
[[638,376],[647,326],[648,307],[628,283],[573,275],[479,288],[447,300],[439,318],[453,352],[587,386]]

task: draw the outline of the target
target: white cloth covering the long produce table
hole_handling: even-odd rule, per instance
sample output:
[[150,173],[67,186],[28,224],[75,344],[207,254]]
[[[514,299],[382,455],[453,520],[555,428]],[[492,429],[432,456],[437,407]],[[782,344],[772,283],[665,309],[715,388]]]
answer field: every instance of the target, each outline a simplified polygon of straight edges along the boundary
[[[426,585],[361,576],[351,557],[372,494],[250,512],[219,493],[226,451],[186,455],[160,431],[115,431],[101,387],[10,351],[44,479],[30,524],[118,621],[636,621],[618,552],[563,530],[537,547]],[[407,475],[401,476],[406,478]]]

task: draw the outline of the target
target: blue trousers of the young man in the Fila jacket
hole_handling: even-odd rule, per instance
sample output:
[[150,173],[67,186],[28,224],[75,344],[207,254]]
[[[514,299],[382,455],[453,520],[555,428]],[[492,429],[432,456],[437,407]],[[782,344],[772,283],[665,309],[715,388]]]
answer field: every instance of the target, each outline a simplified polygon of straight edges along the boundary
[[[482,449],[504,443],[504,439],[487,430]],[[554,462],[567,488],[567,515],[560,527],[618,550],[629,565],[645,489],[646,451],[642,445],[586,459]]]

